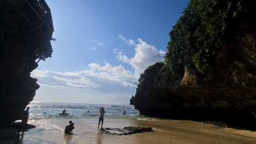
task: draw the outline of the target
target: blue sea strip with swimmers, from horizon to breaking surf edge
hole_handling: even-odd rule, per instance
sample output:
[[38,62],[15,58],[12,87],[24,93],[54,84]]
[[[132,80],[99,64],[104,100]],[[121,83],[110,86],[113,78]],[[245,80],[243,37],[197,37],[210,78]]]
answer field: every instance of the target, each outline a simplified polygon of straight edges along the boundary
[[[104,107],[106,111],[105,118],[141,118],[139,111],[132,105],[100,105],[100,104],[72,104],[72,103],[42,103],[31,102],[30,119],[45,118],[98,118],[99,109]],[[67,116],[61,116],[59,113],[66,109]],[[89,112],[88,112],[89,111]],[[124,115],[124,111],[126,114]]]

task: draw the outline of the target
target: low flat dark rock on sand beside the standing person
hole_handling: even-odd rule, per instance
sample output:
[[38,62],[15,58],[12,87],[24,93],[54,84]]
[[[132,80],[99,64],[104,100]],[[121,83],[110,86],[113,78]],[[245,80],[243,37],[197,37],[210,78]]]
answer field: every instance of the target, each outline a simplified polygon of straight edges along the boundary
[[135,133],[143,133],[153,131],[152,128],[141,128],[141,127],[125,127],[123,129],[118,128],[101,128],[100,134],[106,134],[106,135],[130,135]]

